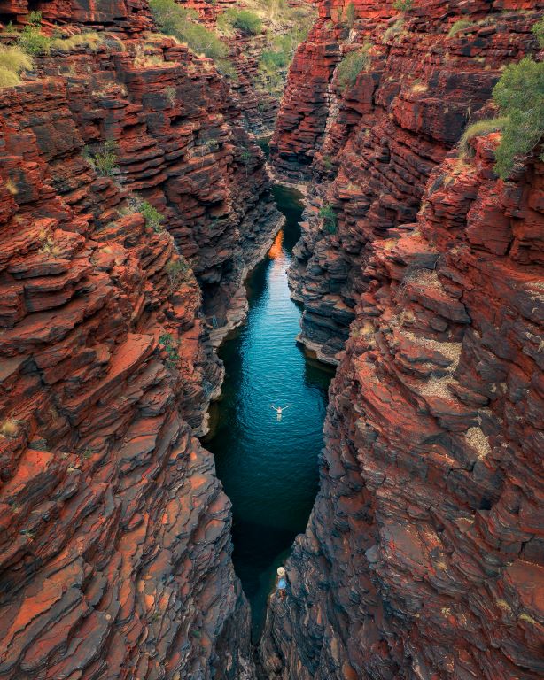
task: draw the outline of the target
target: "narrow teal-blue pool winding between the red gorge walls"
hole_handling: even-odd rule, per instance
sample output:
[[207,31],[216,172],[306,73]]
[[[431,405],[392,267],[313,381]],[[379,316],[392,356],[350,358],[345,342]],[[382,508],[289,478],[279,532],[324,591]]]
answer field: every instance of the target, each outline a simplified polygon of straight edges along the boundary
[[[276,187],[286,216],[267,259],[247,281],[249,314],[219,352],[227,377],[214,405],[217,475],[233,506],[234,566],[259,631],[277,566],[304,531],[317,492],[317,456],[332,373],[296,344],[300,313],[286,268],[299,238],[297,192]],[[286,406],[281,421],[270,405]]]

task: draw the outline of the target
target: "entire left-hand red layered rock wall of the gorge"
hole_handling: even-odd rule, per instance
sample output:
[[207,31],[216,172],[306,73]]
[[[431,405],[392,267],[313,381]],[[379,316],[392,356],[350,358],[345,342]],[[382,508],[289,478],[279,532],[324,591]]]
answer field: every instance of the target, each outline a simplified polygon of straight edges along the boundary
[[279,215],[209,60],[120,23],[0,93],[0,677],[242,680],[193,432]]

